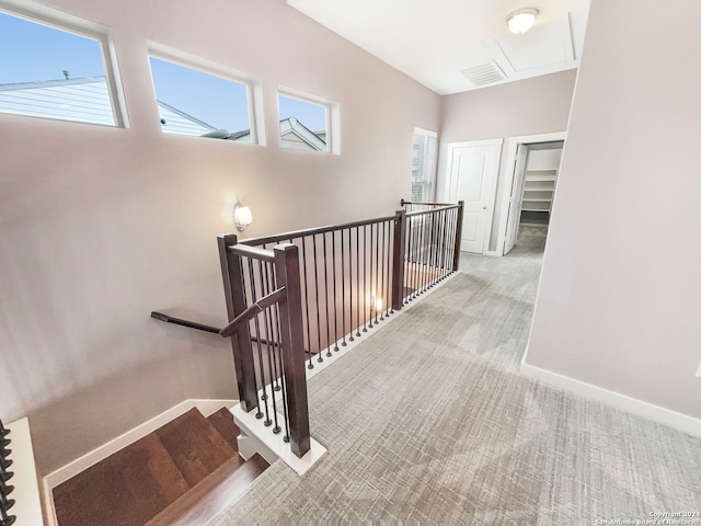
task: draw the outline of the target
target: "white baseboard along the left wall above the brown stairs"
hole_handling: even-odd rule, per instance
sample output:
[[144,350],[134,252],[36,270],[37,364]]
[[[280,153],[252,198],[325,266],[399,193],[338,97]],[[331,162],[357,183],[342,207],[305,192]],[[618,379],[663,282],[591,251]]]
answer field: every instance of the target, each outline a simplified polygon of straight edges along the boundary
[[127,431],[106,444],[103,444],[92,451],[88,451],[82,457],[58,468],[56,471],[50,472],[44,477],[42,482],[47,524],[49,526],[55,526],[58,523],[56,519],[56,510],[54,508],[54,498],[51,493],[53,489],[57,485],[66,482],[68,479],[74,477],[81,471],[84,471],[91,466],[94,466],[99,461],[107,458],[110,455],[117,453],[119,449],[125,448],[129,444],[135,443],[139,438],[143,438],[149,433],[153,433],[159,427],[168,424],[170,421],[186,413],[193,408],[197,408],[202,414],[209,416],[221,409],[222,405],[230,409],[238,402],[238,400],[185,400],[163,411],[161,414],[156,415],[151,420],[137,425],[133,430]]

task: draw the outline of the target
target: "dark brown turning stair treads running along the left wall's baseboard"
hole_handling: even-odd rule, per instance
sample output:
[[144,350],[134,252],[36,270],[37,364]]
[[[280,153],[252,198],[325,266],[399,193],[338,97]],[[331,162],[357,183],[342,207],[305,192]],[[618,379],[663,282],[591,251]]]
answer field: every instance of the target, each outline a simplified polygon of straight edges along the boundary
[[59,526],[143,525],[225,464],[244,464],[223,411],[215,427],[193,409],[56,487]]

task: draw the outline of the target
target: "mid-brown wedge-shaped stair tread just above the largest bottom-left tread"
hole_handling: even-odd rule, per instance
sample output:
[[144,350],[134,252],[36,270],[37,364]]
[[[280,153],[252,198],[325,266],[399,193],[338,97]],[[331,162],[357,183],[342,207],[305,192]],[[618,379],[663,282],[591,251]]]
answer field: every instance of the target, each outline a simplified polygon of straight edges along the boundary
[[238,456],[196,408],[163,425],[156,434],[191,488]]

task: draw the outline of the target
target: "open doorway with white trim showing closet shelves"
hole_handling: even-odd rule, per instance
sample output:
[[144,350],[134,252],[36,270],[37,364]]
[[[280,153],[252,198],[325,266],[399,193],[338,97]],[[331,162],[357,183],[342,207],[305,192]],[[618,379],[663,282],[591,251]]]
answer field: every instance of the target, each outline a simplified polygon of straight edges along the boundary
[[508,196],[503,254],[519,242],[544,247],[558,186],[564,134],[514,138],[514,167]]

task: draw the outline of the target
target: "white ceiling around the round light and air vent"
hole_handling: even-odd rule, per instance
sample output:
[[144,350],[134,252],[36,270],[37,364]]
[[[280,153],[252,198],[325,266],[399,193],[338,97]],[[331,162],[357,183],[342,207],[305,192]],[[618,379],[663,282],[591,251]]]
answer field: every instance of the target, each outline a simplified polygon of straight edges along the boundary
[[[576,68],[589,0],[287,0],[292,8],[439,94]],[[506,18],[540,14],[524,35]],[[461,71],[503,77],[478,85]]]

